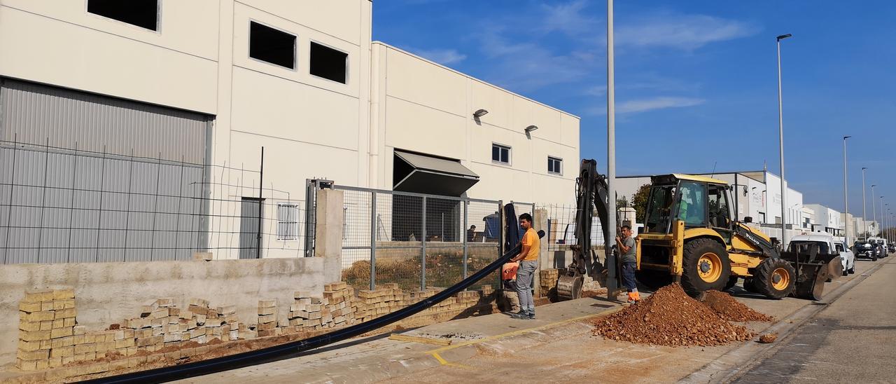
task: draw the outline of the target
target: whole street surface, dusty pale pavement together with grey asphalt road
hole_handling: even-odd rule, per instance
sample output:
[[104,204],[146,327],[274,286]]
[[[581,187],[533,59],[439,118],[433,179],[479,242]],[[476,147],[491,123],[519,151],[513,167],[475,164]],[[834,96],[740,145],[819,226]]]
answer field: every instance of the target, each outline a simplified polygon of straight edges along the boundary
[[[887,263],[856,284],[829,308],[797,327],[794,336],[782,336],[769,352],[737,357],[738,364],[755,363],[741,382],[870,381],[896,377],[883,364],[892,354],[896,299],[896,257],[877,263],[859,262],[857,274],[827,284],[827,292],[860,278],[872,267]],[[766,300],[745,292],[737,300],[774,316],[786,326],[788,316],[811,310],[812,301],[788,298]],[[591,336],[590,326],[578,317],[616,309],[607,301],[582,299],[540,307],[537,322],[511,320],[495,314],[461,319],[405,334],[446,335],[466,333],[473,340],[455,340],[448,347],[399,342],[384,337],[356,339],[320,353],[272,362],[188,382],[426,382],[463,380],[496,382],[575,380],[580,382],[669,382],[684,379],[723,356],[732,358],[743,349],[764,347],[755,343],[717,347],[672,348],[608,341]],[[784,320],[781,320],[784,319]],[[781,323],[784,324],[781,324]],[[767,323],[749,323],[756,332]],[[478,335],[478,336],[477,336]],[[761,357],[770,358],[762,362]],[[822,363],[815,363],[822,362]],[[848,368],[851,366],[851,371]],[[701,380],[692,380],[701,381]],[[706,380],[715,381],[715,380]]]

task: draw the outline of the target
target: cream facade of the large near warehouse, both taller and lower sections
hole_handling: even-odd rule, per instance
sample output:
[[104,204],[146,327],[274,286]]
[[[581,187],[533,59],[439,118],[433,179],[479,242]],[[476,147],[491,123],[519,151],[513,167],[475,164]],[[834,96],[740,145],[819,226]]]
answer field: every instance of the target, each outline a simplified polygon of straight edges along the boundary
[[[400,153],[470,172],[465,188],[399,186],[409,192],[572,200],[578,117],[372,41],[369,0],[115,3],[0,0],[0,141],[188,164],[180,184],[202,189],[202,215],[236,217],[202,223],[222,234],[189,241],[245,248],[241,237],[258,233],[240,210],[280,226],[281,208],[299,214],[306,179],[396,188]],[[177,194],[166,175],[157,184]],[[130,191],[129,179],[114,188]],[[265,205],[253,208],[259,193]],[[133,225],[121,221],[108,225]],[[295,236],[270,237],[258,239],[281,251],[263,257],[300,254]]]

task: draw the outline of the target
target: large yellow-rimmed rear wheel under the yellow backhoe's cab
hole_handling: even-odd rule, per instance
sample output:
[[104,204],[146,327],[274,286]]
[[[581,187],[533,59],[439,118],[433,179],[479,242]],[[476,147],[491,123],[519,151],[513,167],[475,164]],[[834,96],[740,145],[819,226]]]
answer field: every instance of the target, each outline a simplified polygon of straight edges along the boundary
[[681,287],[691,296],[702,292],[722,291],[731,276],[728,251],[719,241],[696,239],[685,244],[682,257]]

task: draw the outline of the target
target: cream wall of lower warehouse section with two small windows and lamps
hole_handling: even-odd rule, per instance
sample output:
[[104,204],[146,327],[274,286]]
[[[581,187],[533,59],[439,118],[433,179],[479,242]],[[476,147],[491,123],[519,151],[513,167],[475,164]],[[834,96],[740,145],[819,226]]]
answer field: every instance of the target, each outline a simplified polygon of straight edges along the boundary
[[[380,42],[373,50],[377,188],[392,188],[398,148],[460,160],[480,177],[470,197],[573,203],[579,118]],[[477,121],[476,109],[488,114]],[[492,161],[493,143],[512,147],[511,164]],[[564,161],[562,175],[547,173],[547,156]]]

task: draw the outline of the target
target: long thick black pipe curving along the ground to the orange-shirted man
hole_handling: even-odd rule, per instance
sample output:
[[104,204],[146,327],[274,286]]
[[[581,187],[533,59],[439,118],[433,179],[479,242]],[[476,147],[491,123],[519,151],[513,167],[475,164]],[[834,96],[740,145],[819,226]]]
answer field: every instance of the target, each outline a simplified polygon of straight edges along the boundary
[[[545,236],[545,231],[538,231],[538,237]],[[475,284],[483,277],[494,272],[503,266],[508,260],[520,253],[521,246],[517,245],[510,249],[497,260],[488,266],[478,270],[473,275],[461,280],[460,283],[454,284],[442,292],[438,292],[432,297],[426,298],[409,305],[401,310],[396,310],[386,314],[380,318],[365,321],[351,327],[337,329],[321,336],[309,337],[304,340],[297,340],[282,345],[274,345],[271,347],[249,351],[244,353],[231,354],[229,356],[217,357],[214,359],[203,360],[199,362],[189,362],[181,365],[175,365],[164,368],[156,368],[148,371],[138,371],[125,373],[116,376],[108,376],[94,380],[86,380],[88,383],[155,383],[171,380],[182,380],[194,376],[202,376],[210,373],[235,370],[250,365],[263,364],[287,358],[291,355],[310,351],[323,345],[330,345],[349,337],[365,334],[379,327],[385,327],[401,319],[406,319],[421,310],[426,310],[440,301],[452,297],[455,293],[467,289],[470,285]]]

